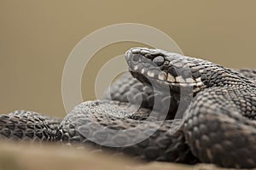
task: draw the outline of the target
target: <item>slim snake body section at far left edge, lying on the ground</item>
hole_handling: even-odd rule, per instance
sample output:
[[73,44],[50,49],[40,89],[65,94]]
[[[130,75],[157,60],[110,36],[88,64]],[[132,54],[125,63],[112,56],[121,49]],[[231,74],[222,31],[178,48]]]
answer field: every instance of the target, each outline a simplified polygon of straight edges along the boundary
[[[47,122],[46,119],[49,120]],[[0,115],[0,139],[15,141],[54,141],[60,123],[33,111],[14,111]],[[55,123],[54,123],[55,122]]]

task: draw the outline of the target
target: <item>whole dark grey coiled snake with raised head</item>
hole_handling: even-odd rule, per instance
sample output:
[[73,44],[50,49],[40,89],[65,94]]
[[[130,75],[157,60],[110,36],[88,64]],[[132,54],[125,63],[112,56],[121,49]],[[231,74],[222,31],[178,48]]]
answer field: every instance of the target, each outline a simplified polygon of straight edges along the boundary
[[[129,72],[103,99],[62,119],[0,116],[0,138],[83,144],[145,161],[256,167],[256,69],[230,69],[162,49],[131,48]],[[179,114],[177,114],[179,113]]]

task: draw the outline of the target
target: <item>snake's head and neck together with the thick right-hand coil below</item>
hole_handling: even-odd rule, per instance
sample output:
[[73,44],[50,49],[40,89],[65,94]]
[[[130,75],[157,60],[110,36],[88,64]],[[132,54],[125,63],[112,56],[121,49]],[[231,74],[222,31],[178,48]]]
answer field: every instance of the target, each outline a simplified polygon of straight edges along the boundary
[[[160,49],[132,48],[126,60],[134,77],[172,97],[193,96],[183,133],[202,162],[256,167],[256,85],[236,71]],[[150,63],[150,65],[147,65]],[[150,83],[149,83],[150,82]]]

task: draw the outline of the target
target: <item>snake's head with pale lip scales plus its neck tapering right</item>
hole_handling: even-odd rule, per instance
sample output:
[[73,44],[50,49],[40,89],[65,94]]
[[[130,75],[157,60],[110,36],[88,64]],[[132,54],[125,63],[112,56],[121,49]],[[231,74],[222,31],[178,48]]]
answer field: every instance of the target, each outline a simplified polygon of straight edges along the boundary
[[[180,94],[189,88],[193,95],[210,87],[224,87],[254,82],[237,71],[161,49],[131,48],[125,53],[131,75],[149,86],[168,86],[171,94]],[[154,88],[153,87],[153,88]]]

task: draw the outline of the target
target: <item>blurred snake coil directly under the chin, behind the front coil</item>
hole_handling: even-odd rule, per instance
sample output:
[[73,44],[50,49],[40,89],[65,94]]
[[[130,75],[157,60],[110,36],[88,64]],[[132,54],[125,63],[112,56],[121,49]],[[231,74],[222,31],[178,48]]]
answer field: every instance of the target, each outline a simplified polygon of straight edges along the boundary
[[143,108],[162,112],[169,105],[168,119],[173,119],[178,107],[178,101],[168,94],[143,85],[129,72],[124,73],[105,92],[103,99],[128,102],[131,105],[140,105]]

